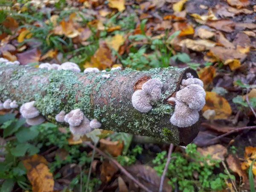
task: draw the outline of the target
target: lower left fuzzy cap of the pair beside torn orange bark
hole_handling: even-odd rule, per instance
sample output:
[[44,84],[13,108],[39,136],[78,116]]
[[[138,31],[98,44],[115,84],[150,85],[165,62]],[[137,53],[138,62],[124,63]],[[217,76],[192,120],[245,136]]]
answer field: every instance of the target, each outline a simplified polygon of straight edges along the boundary
[[143,90],[137,90],[131,97],[133,107],[141,113],[148,113],[152,109],[150,105],[151,97]]

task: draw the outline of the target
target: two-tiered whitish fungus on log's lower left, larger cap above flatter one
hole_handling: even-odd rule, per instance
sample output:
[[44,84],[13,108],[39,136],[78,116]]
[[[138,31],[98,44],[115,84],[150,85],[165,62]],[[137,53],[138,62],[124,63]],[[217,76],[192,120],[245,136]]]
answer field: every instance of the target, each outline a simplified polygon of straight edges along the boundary
[[29,125],[39,125],[45,121],[44,117],[39,114],[37,108],[34,107],[35,101],[27,102],[21,105],[20,113],[26,118]]

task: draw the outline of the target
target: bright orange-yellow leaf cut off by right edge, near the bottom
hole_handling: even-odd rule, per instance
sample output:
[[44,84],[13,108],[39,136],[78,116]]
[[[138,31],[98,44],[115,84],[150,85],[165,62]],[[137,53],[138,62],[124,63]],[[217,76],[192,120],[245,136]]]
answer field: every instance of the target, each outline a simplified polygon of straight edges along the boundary
[[[256,147],[246,147],[244,153],[245,161],[241,163],[241,168],[247,170],[250,168],[253,160],[256,159]],[[253,175],[256,175],[256,162],[253,164]]]

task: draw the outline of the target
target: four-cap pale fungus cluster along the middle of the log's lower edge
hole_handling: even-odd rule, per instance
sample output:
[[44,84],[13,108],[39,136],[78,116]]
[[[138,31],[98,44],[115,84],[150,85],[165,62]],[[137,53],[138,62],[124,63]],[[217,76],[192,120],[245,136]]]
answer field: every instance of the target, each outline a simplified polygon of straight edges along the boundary
[[61,111],[55,116],[55,119],[57,122],[67,122],[74,135],[84,135],[101,127],[101,123],[97,119],[90,121],[80,109],[74,109],[67,114],[65,111]]

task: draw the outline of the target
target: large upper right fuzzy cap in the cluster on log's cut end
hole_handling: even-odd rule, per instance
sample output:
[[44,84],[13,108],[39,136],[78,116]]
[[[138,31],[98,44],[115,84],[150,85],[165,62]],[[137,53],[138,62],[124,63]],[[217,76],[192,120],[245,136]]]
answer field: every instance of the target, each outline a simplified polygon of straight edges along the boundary
[[180,102],[189,105],[189,108],[201,111],[205,105],[206,93],[204,88],[197,84],[190,84],[176,93],[176,98]]

